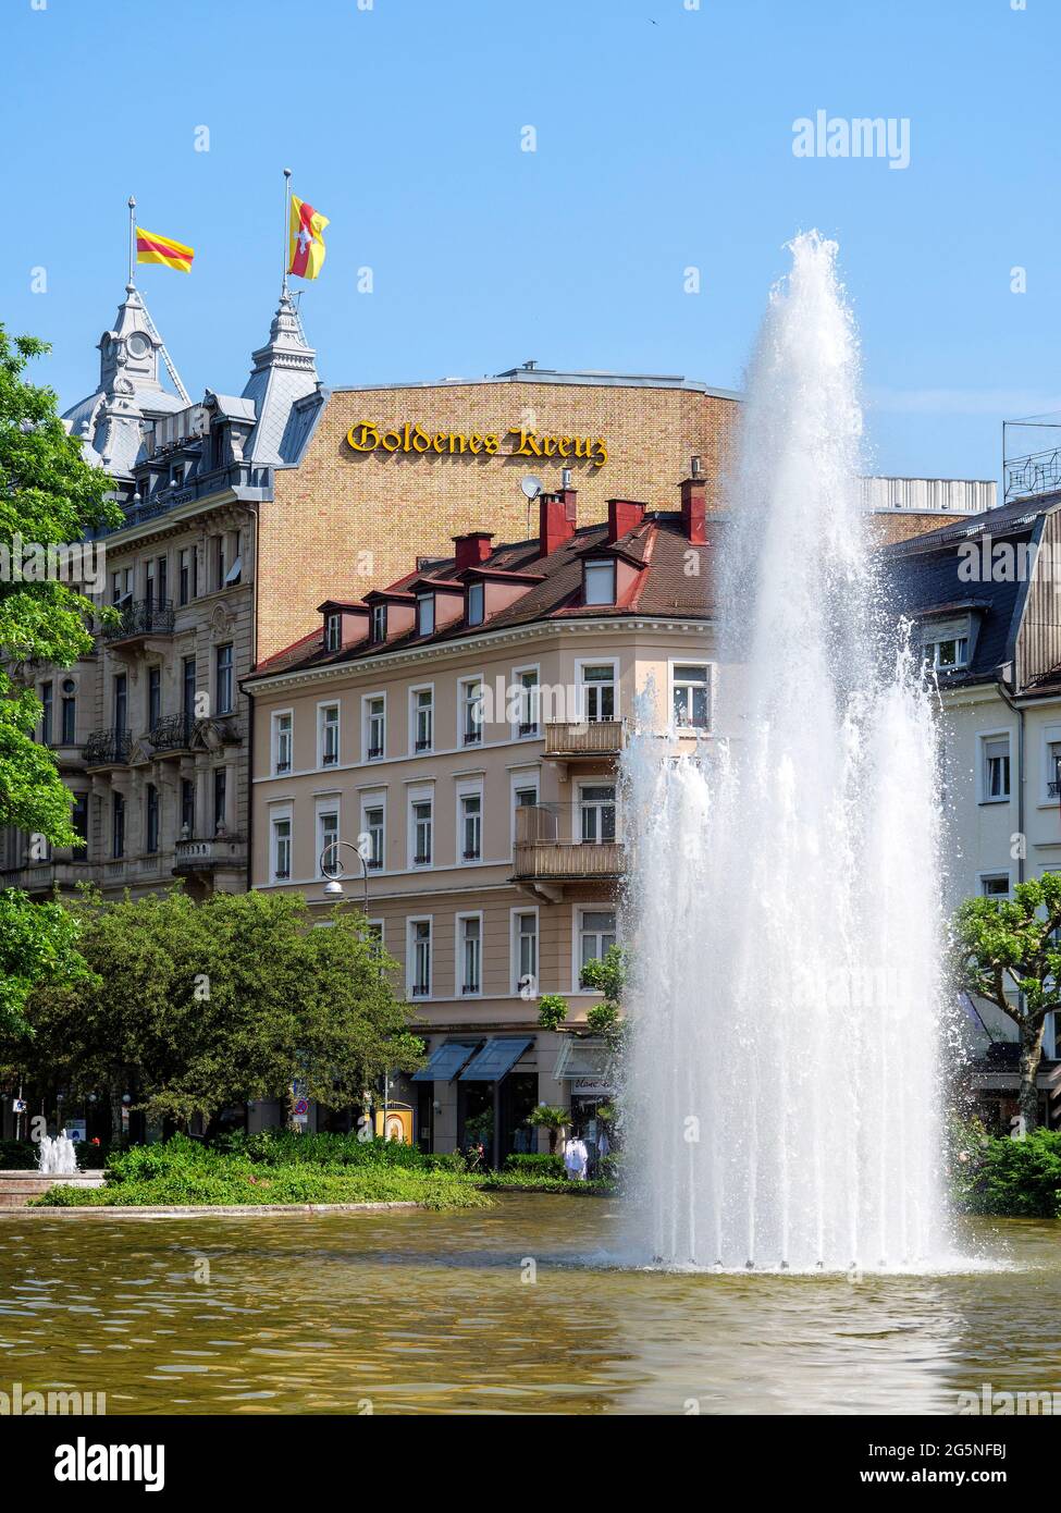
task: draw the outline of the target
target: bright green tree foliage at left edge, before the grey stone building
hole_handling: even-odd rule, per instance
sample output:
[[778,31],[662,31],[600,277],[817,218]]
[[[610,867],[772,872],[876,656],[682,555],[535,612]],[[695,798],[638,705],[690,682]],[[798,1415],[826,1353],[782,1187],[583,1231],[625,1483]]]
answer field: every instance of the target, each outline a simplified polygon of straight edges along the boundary
[[[54,548],[79,543],[86,530],[121,523],[104,498],[109,478],[89,468],[67,436],[51,389],[23,380],[32,357],[48,346],[14,340],[0,325],[0,826],[41,835],[53,846],[80,846],[71,797],[54,756],[33,735],[41,704],[32,676],[38,663],[68,667],[92,649],[92,601],[58,570]],[[51,548],[51,563],[48,563]],[[18,1029],[35,979],[76,968],[76,938],[62,912],[24,893],[3,894],[0,1030]]]

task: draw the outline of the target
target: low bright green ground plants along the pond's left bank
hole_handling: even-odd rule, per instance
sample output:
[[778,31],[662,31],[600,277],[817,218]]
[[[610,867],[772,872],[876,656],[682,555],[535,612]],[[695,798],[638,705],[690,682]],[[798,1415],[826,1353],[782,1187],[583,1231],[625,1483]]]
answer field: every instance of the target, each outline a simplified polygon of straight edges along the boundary
[[489,1200],[456,1171],[381,1160],[362,1165],[254,1162],[176,1135],[136,1145],[107,1162],[104,1188],[51,1188],[45,1207],[173,1207],[263,1203],[419,1203],[431,1209],[484,1207]]

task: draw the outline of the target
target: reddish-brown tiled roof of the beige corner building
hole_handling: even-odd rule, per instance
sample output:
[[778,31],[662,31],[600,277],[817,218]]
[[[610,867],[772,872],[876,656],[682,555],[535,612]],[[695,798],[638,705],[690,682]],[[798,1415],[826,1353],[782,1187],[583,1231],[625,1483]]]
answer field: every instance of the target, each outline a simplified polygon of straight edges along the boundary
[[[608,543],[607,523],[586,525],[575,531],[571,540],[539,557],[539,542],[512,542],[495,548],[486,561],[477,567],[486,572],[527,572],[542,576],[509,608],[490,614],[483,625],[466,626],[463,620],[445,625],[431,635],[418,635],[415,628],[406,635],[389,637],[384,643],[369,646],[366,642],[324,649],[322,625],[303,635],[292,646],[259,663],[253,676],[330,667],[338,663],[366,663],[407,648],[451,645],[489,631],[510,629],[536,622],[565,622],[578,619],[702,619],[711,616],[710,557],[719,534],[720,517],[708,517],[708,545],[690,546],[683,530],[680,513],[652,513],[613,545]],[[624,561],[643,564],[633,595],[618,605],[581,602],[583,558],[602,552],[619,552]],[[698,558],[699,572],[689,572],[689,554]],[[406,573],[389,584],[387,593],[403,593],[413,583],[451,583],[456,573],[453,557],[431,561],[430,566]],[[474,575],[474,569],[472,569]],[[341,598],[341,595],[336,595]]]

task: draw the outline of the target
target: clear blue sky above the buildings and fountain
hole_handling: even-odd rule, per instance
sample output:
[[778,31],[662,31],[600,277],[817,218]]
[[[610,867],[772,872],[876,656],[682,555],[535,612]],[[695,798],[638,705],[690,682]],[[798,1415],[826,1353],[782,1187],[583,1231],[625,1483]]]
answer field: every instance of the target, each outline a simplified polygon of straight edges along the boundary
[[[2,27],[0,313],[54,343],[64,404],[121,297],[130,192],[195,247],[188,277],[139,274],[185,383],[239,392],[288,165],[331,219],[303,298],[330,384],[534,357],[739,387],[783,244],[817,225],[878,472],[994,477],[1002,418],[1061,405],[1056,0],[3,0]],[[819,109],[910,118],[910,166],[793,156]]]

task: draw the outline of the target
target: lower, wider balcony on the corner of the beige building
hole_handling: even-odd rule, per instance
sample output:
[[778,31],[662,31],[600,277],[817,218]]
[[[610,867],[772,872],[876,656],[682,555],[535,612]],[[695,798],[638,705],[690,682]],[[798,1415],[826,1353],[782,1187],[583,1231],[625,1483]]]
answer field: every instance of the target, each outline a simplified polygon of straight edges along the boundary
[[625,846],[615,835],[615,805],[531,803],[516,809],[513,881],[559,902],[574,882],[618,882]]

